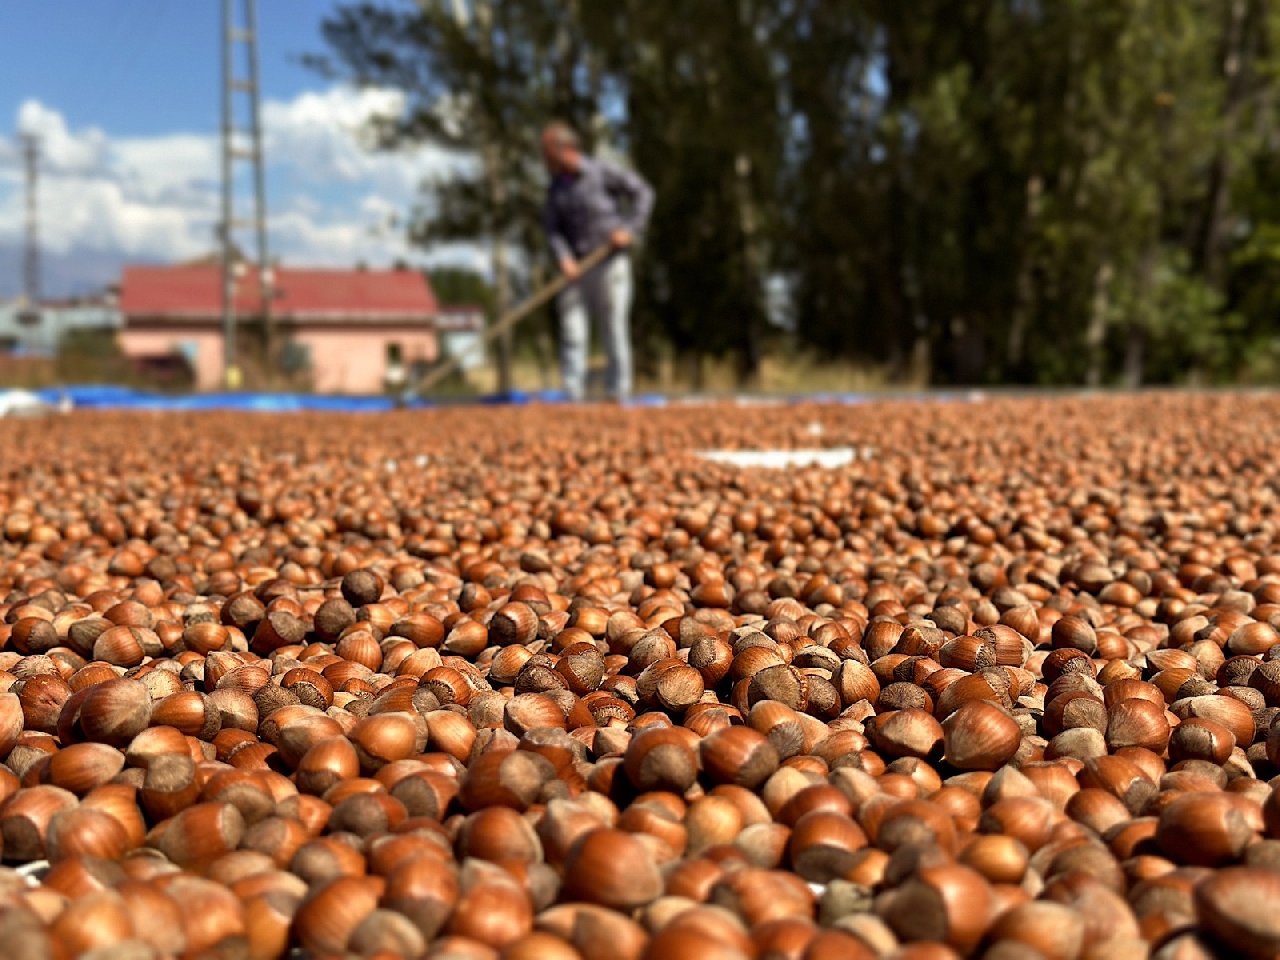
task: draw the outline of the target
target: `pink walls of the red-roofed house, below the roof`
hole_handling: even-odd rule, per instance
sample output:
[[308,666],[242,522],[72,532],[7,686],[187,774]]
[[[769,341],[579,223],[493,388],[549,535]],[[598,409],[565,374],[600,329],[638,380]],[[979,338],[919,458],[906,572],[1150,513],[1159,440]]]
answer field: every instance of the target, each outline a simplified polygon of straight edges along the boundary
[[[401,362],[431,362],[439,346],[434,330],[406,326],[361,326],[358,329],[305,328],[291,339],[311,355],[312,385],[319,393],[380,393],[387,376],[387,348],[401,346]],[[223,384],[221,333],[209,329],[124,329],[120,349],[132,357],[170,353],[184,344],[195,348],[197,390],[216,390]]]

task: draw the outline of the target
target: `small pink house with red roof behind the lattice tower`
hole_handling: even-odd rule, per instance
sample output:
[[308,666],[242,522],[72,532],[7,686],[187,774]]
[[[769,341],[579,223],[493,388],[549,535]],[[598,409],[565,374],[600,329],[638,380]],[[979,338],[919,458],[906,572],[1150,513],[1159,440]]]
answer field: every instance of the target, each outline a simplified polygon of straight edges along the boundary
[[[417,270],[275,268],[271,317],[278,364],[321,393],[380,393],[440,355],[442,308]],[[451,310],[453,316],[456,311]],[[262,314],[257,271],[238,269],[236,315]],[[120,282],[120,349],[142,361],[186,357],[196,389],[223,383],[223,278],[212,262],[131,266]],[[483,325],[479,311],[474,324]],[[454,321],[448,323],[453,326]]]

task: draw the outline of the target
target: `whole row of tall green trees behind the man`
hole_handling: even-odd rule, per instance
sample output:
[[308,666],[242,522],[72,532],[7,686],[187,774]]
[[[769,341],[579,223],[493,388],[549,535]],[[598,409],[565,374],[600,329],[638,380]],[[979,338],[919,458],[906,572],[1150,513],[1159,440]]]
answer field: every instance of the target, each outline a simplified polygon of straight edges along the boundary
[[385,0],[315,61],[404,91],[381,146],[479,159],[412,236],[497,241],[513,292],[549,270],[540,125],[625,155],[658,192],[641,356],[1135,385],[1280,372],[1277,31],[1265,0]]

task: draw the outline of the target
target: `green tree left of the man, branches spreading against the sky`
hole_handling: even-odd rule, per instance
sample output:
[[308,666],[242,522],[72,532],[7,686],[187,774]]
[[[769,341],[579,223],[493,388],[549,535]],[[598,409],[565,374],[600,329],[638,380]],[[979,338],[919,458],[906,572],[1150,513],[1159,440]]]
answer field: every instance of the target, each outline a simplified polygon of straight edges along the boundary
[[[410,218],[421,244],[479,241],[490,251],[493,314],[536,282],[543,174],[538,132],[550,116],[590,132],[595,92],[579,69],[575,4],[550,0],[420,0],[339,6],[323,24],[329,46],[310,61],[330,76],[404,93],[379,118],[376,143],[451,147],[474,157],[470,174],[429,184]],[[525,270],[517,270],[518,265]],[[524,283],[521,282],[524,280]],[[502,388],[511,388],[511,340],[499,342]]]

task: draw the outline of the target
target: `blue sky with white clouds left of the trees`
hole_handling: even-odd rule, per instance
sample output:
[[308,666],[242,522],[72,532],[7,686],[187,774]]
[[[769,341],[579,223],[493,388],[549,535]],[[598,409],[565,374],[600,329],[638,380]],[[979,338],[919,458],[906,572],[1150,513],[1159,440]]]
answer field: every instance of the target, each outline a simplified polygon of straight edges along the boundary
[[[431,148],[370,155],[358,145],[364,120],[394,110],[396,93],[335,86],[298,61],[323,51],[320,23],[337,6],[257,3],[274,252],[316,265],[474,262],[468,248],[407,250],[387,227],[424,179],[447,180],[466,159]],[[0,3],[0,297],[19,287],[23,129],[45,147],[47,294],[110,280],[131,260],[207,252],[219,197],[220,24],[221,0]]]

